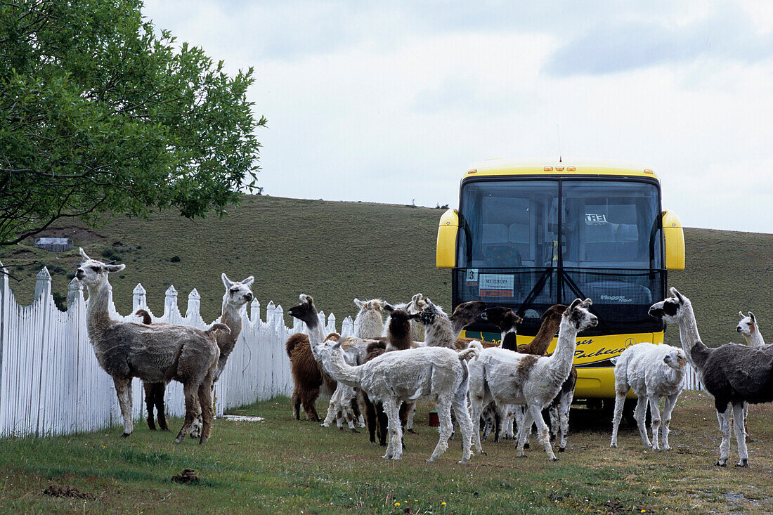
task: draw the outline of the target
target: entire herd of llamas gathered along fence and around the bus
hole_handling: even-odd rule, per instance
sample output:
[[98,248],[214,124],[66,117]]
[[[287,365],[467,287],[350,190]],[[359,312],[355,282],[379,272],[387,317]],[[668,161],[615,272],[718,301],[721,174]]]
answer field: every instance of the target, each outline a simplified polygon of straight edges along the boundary
[[[168,430],[163,396],[170,380],[182,383],[186,414],[175,443],[189,431],[206,443],[212,431],[212,389],[226,366],[241,331],[245,305],[252,301],[253,278],[234,282],[223,274],[223,312],[208,329],[152,322],[147,312],[138,312],[141,322],[112,319],[108,310],[111,286],[108,275],[124,264],[105,264],[80,250],[83,261],[76,277],[88,291],[87,330],[97,361],[111,375],[124,419],[124,437],[131,435],[130,384],[139,377],[145,386],[148,427]],[[638,343],[615,360],[615,410],[611,447],[617,447],[618,427],[628,391],[638,397],[634,418],[642,443],[654,450],[669,450],[669,423],[676,398],[683,388],[687,363],[699,373],[717,409],[721,443],[717,466],[726,466],[730,435],[734,432],[739,461],[748,466],[746,410],[748,404],[773,401],[773,346],[765,345],[758,322],[751,312],[739,312],[737,332],[747,345],[728,343],[707,347],[698,334],[690,299],[671,288],[672,297],[657,302],[649,315],[679,327],[681,348],[665,344]],[[516,326],[522,320],[509,308],[488,307],[484,302],[465,302],[451,315],[421,294],[410,302],[390,305],[380,299],[354,299],[359,308],[356,334],[342,337],[323,333],[318,309],[309,295],[288,310],[305,322],[308,336],[292,335],[285,349],[295,381],[292,411],[300,408],[310,421],[319,421],[315,401],[324,389],[330,395],[327,427],[336,421],[353,432],[368,428],[371,442],[386,445],[385,459],[400,459],[404,433],[413,431],[414,404],[434,401],[438,411],[438,444],[428,461],[435,461],[448,448],[458,427],[461,462],[468,462],[472,448],[485,454],[483,439],[494,431],[499,437],[516,438],[516,455],[523,455],[532,427],[548,459],[556,460],[550,431],[567,444],[569,408],[577,370],[572,361],[577,334],[598,323],[590,298],[577,298],[569,306],[554,305],[542,316],[540,331],[531,343],[516,345]],[[386,321],[384,320],[386,317]],[[498,346],[459,334],[475,320],[499,327]],[[552,354],[547,347],[557,333]],[[660,412],[659,402],[665,397]],[[649,404],[650,440],[645,427]],[[550,427],[543,410],[550,413]],[[364,411],[364,416],[363,416]],[[732,415],[732,419],[730,416]],[[200,417],[200,423],[196,419]],[[517,425],[517,433],[515,426]],[[751,441],[751,439],[750,439]]]

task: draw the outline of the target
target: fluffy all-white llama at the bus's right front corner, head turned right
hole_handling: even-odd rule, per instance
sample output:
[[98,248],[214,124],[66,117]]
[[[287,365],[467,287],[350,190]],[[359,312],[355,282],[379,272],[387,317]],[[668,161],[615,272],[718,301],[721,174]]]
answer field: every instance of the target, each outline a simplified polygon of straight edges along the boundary
[[[610,447],[618,446],[618,427],[623,414],[625,396],[632,389],[638,397],[634,418],[642,443],[653,450],[659,450],[658,429],[661,427],[660,397],[666,397],[663,408],[662,440],[664,451],[669,446],[669,424],[671,411],[684,387],[684,370],[687,358],[684,351],[670,345],[637,343],[624,350],[615,363],[615,415],[612,418],[612,440]],[[649,400],[649,414],[652,420],[652,443],[647,437],[645,415]]]

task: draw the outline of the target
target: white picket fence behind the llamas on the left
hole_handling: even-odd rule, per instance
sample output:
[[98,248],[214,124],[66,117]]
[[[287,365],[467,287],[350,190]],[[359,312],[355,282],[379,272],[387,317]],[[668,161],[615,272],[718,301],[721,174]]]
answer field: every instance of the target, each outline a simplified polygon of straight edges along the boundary
[[[135,288],[132,305],[132,313],[148,309],[142,285]],[[119,315],[112,300],[110,306],[115,319],[138,321],[133,314]],[[153,319],[200,328],[209,325],[199,315],[199,293],[195,289],[190,292],[183,316],[172,286],[166,291],[164,314]],[[325,314],[320,313],[320,319],[329,332],[336,330],[334,315],[325,321]],[[342,333],[353,330],[352,319],[347,317]],[[284,342],[293,333],[308,331],[297,320],[292,328],[286,327],[284,311],[274,302],[268,303],[264,322],[260,303],[252,302],[243,314],[236,348],[215,385],[217,415],[228,408],[291,393]],[[135,419],[144,423],[140,380],[133,381],[132,391]],[[169,384],[165,402],[169,415],[185,414],[181,384]],[[51,296],[51,276],[46,268],[37,276],[35,300],[28,306],[15,302],[8,275],[0,273],[0,437],[63,435],[122,423],[113,380],[100,368],[88,339],[80,282],[70,282],[67,311],[60,312]]]

